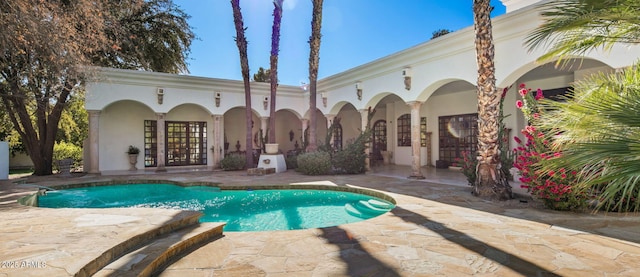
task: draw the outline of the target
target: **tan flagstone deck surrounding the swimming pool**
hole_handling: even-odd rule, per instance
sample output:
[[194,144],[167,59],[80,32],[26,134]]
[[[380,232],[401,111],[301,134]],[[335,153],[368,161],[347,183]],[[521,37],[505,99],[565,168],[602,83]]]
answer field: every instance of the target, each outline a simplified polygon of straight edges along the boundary
[[527,198],[489,202],[471,196],[458,172],[425,168],[423,173],[425,180],[407,179],[410,169],[402,166],[343,176],[303,176],[291,170],[264,176],[140,170],[0,181],[0,276],[72,276],[106,249],[195,214],[25,207],[16,199],[35,188],[16,181],[56,186],[154,179],[222,186],[357,186],[385,192],[397,201],[391,212],[353,224],[225,232],[160,276],[640,276],[637,214],[554,212]]

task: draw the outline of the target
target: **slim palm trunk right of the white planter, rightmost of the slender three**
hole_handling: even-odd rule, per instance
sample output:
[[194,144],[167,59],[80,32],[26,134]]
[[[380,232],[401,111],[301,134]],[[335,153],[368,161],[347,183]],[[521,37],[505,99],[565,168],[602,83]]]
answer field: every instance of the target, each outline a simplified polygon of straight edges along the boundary
[[318,83],[318,64],[320,60],[320,27],[322,27],[322,2],[312,0],[313,17],[311,19],[311,38],[309,38],[309,144],[307,151],[314,152],[318,148],[316,142],[316,86]]

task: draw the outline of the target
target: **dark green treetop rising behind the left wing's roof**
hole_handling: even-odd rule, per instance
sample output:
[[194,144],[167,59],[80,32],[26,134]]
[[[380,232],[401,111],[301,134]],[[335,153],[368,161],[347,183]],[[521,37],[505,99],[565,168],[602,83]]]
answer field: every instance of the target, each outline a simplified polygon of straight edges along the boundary
[[92,63],[103,67],[166,73],[188,72],[186,57],[195,38],[189,15],[173,0],[106,1],[115,23],[105,34],[113,47],[99,49]]

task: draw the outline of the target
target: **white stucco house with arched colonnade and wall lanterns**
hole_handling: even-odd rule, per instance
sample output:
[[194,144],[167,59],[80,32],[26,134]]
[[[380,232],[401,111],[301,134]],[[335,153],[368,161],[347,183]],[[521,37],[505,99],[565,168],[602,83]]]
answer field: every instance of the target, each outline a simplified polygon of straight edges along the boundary
[[[570,68],[540,64],[543,53],[528,52],[527,34],[539,25],[535,0],[503,0],[507,13],[493,20],[496,84],[514,85],[505,100],[506,126],[518,135],[524,118],[515,107],[518,84],[548,93],[564,91],[594,72],[632,65],[637,47],[617,46],[576,59]],[[374,138],[372,159],[391,152],[391,163],[421,166],[436,160],[453,162],[474,150],[477,119],[477,64],[473,26],[371,61],[318,81],[318,141],[340,118],[333,143],[347,143],[367,123],[369,108]],[[254,145],[245,145],[245,105],[241,80],[222,80],[143,71],[101,70],[87,87],[89,139],[85,170],[100,173],[129,168],[125,151],[141,149],[138,167],[217,167],[225,154],[259,148],[266,130],[269,84],[251,83]],[[309,125],[309,92],[280,85],[276,104],[276,136],[282,152],[302,145]],[[228,145],[228,146],[225,146]]]

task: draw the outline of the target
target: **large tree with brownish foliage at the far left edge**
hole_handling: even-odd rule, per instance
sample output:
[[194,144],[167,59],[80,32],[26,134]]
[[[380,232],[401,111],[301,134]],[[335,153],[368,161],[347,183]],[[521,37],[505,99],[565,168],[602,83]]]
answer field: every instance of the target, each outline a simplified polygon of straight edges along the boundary
[[[121,41],[114,41],[114,38],[131,36],[130,30],[126,29],[130,25],[114,24],[120,22],[123,14],[130,11],[135,14],[139,8],[158,12],[155,6],[145,3],[143,0],[118,5],[106,0],[9,0],[0,3],[0,24],[3,26],[0,31],[0,103],[33,161],[35,175],[52,173],[53,146],[63,112],[82,84],[95,76],[88,65],[105,65],[102,63],[105,60],[97,58],[100,53],[112,53],[113,61],[136,60],[139,63],[136,68],[151,69],[158,65],[144,62],[149,56],[138,51],[147,48],[146,42],[164,41],[160,44],[176,47],[168,43],[169,38],[153,40],[145,37],[138,42],[137,48],[124,51],[126,48],[121,46]],[[182,31],[190,33],[189,29]],[[183,46],[188,47],[188,44]],[[162,57],[165,59],[162,63],[184,64],[185,48],[175,52],[180,55]]]

